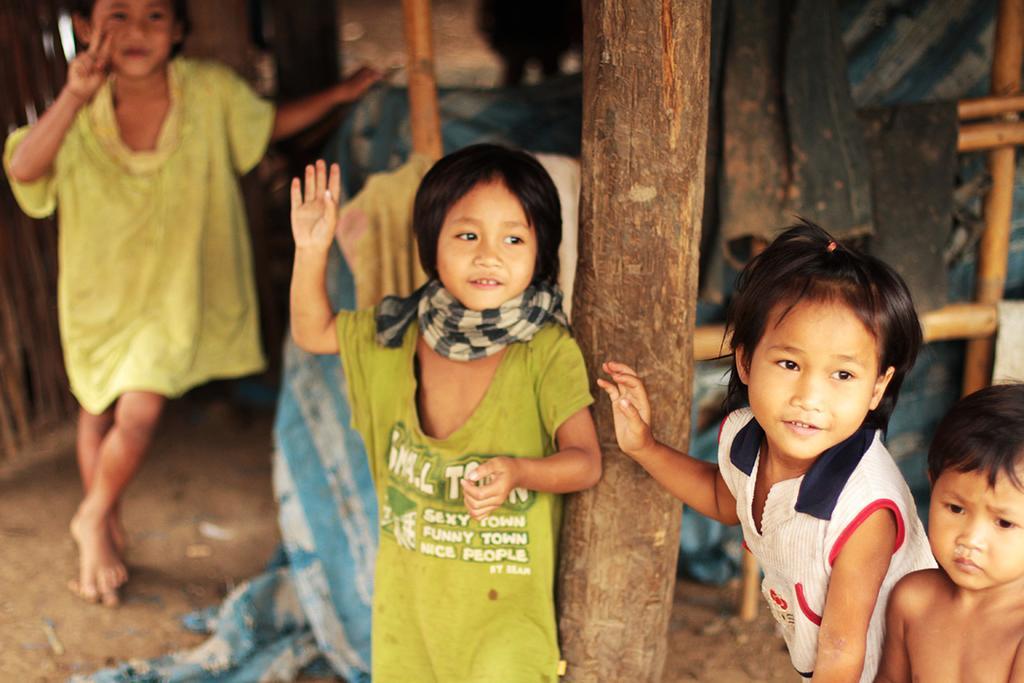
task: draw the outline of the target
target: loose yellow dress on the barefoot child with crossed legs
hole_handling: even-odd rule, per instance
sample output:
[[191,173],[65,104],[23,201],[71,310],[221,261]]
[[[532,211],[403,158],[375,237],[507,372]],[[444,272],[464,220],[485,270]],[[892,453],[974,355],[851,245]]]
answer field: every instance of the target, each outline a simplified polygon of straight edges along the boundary
[[[51,174],[10,179],[22,209],[59,207],[57,309],[71,388],[99,414],[125,391],[174,397],[263,369],[238,176],[263,157],[273,105],[229,69],[174,59],[157,148],[121,140],[108,82],[68,131]],[[15,130],[4,169],[24,139]]]

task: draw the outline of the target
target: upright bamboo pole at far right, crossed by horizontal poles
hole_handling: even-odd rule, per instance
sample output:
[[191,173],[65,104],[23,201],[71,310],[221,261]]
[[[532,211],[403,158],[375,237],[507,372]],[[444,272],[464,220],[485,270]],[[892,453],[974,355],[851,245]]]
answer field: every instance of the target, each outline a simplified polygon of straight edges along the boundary
[[[993,95],[1006,96],[1020,92],[1024,0],[999,0],[992,54]],[[992,187],[985,197],[985,231],[978,245],[975,292],[975,300],[981,303],[995,303],[1001,299],[1007,282],[1016,157],[1017,151],[1013,146],[988,153]],[[965,395],[987,386],[991,381],[994,346],[995,342],[991,337],[968,342],[964,360]]]

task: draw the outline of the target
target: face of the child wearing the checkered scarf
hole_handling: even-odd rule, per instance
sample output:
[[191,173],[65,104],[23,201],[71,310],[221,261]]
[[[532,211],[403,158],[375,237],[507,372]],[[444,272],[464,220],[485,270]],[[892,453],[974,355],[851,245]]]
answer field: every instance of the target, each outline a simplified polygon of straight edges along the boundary
[[472,310],[498,308],[534,279],[537,236],[501,180],[477,183],[452,205],[437,237],[437,275]]

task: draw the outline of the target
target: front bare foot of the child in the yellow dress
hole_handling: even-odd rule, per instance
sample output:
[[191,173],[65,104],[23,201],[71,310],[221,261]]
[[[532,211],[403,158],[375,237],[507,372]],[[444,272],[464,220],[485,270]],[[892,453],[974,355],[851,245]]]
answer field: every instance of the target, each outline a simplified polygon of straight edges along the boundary
[[71,520],[71,535],[78,544],[79,577],[69,588],[84,600],[113,607],[120,602],[118,588],[128,580],[128,569],[114,550],[108,519],[91,517],[82,508]]

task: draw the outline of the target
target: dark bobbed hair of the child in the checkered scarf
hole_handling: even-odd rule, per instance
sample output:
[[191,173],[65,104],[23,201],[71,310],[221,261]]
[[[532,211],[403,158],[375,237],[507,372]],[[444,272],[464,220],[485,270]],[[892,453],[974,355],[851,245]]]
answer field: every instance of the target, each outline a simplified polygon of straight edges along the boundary
[[558,190],[540,162],[500,144],[463,147],[442,158],[423,177],[413,205],[413,231],[423,270],[437,278],[437,238],[447,212],[478,183],[493,181],[501,181],[515,195],[537,234],[532,282],[555,283],[562,240]]

